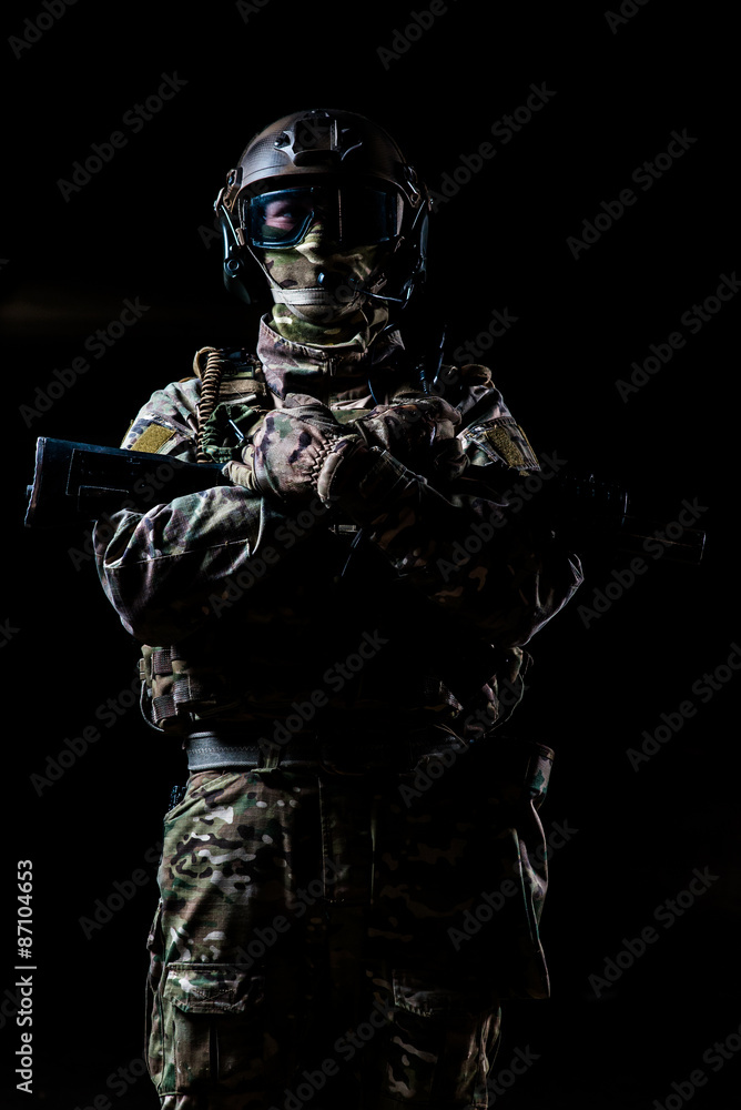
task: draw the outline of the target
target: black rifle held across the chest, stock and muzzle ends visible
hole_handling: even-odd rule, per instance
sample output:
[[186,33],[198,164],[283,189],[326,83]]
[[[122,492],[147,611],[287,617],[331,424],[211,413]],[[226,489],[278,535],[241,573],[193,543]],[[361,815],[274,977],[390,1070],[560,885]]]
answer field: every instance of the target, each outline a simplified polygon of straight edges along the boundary
[[[26,526],[91,523],[122,508],[141,512],[220,485],[231,485],[221,463],[190,463],[148,451],[40,437],[33,483],[27,486]],[[620,551],[640,553],[646,542],[664,528],[622,513],[616,544]],[[662,535],[660,543],[664,558],[697,565],[702,558],[704,532],[683,528],[677,539]]]

